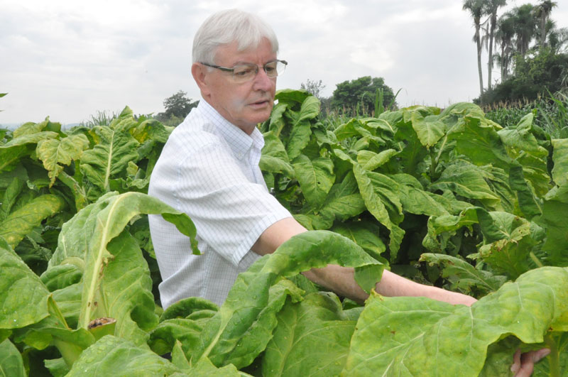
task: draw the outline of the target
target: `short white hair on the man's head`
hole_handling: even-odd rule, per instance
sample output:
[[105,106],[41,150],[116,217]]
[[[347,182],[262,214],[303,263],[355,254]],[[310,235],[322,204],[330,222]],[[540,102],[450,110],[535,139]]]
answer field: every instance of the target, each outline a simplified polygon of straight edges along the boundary
[[228,9],[209,16],[193,38],[192,61],[214,63],[217,48],[236,42],[239,51],[255,48],[267,38],[273,53],[278,53],[278,39],[268,23],[260,17]]

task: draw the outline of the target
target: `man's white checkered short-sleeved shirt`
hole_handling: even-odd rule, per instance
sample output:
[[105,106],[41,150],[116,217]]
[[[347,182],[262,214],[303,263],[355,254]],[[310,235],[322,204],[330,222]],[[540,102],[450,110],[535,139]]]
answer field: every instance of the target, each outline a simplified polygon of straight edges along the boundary
[[258,254],[251,246],[290,212],[268,193],[258,161],[263,136],[247,135],[202,99],[171,133],[151,175],[148,194],[188,214],[202,256],[160,215],[150,231],[162,275],[164,308],[190,296],[221,305],[236,275]]

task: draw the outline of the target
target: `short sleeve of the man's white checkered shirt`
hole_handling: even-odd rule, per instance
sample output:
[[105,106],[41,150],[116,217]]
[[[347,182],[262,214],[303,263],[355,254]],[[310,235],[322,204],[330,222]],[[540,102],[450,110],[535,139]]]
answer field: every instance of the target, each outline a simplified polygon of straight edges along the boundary
[[220,142],[180,154],[178,179],[173,182],[178,209],[192,218],[200,237],[234,266],[268,226],[291,216],[264,185],[247,179]]

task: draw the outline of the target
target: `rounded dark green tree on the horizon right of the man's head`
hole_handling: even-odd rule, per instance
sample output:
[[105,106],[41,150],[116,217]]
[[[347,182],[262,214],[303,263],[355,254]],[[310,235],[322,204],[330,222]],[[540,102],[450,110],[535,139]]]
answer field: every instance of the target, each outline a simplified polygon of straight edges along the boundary
[[364,76],[337,84],[332,94],[331,107],[339,111],[360,109],[370,114],[376,107],[378,94],[382,92],[383,107],[395,106],[393,89],[385,84],[383,77]]

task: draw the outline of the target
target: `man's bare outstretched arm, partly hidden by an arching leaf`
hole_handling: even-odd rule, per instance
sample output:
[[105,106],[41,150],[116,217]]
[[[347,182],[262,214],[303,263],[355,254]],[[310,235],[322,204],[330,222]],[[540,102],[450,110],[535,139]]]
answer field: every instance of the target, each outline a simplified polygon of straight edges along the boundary
[[[300,234],[307,229],[293,217],[275,222],[266,229],[253,245],[252,250],[260,255],[273,253],[278,246],[288,241],[292,236]],[[337,265],[328,265],[325,268],[312,268],[304,275],[314,283],[334,291],[338,295],[351,298],[357,302],[364,302],[368,294],[359,287],[354,278],[354,269]],[[384,296],[424,296],[435,300],[449,302],[450,304],[471,305],[476,302],[474,297],[461,293],[443,290],[430,285],[422,285],[400,275],[384,271],[383,278],[376,285],[377,293]]]

